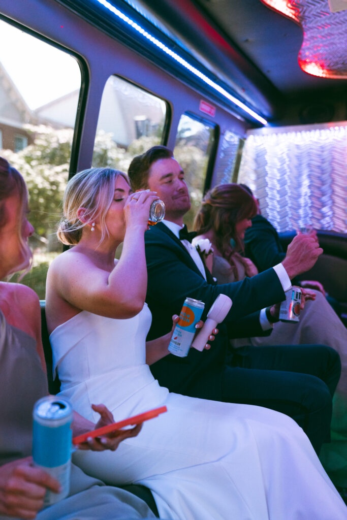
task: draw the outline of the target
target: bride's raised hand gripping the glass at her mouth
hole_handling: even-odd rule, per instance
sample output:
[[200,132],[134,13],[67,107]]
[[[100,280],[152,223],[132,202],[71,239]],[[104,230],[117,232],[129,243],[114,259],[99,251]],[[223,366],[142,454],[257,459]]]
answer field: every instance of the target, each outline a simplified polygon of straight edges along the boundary
[[143,226],[148,229],[149,209],[159,197],[156,191],[136,191],[131,193],[124,205],[126,227]]

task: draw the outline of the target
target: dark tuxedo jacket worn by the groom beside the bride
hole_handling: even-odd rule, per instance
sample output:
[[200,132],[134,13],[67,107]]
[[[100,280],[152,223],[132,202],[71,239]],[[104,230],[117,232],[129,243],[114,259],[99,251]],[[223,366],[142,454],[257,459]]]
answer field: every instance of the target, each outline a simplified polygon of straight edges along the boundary
[[179,314],[187,296],[204,302],[202,319],[219,294],[226,294],[233,301],[223,324],[218,326],[220,332],[210,350],[198,352],[191,348],[185,358],[169,354],[150,367],[159,383],[171,392],[219,400],[228,336],[264,335],[259,322],[260,309],[285,298],[278,276],[268,269],[240,282],[217,285],[206,269],[205,280],[185,246],[162,223],[145,233],[145,249],[146,302],[152,313],[148,339],[171,330],[172,315]]

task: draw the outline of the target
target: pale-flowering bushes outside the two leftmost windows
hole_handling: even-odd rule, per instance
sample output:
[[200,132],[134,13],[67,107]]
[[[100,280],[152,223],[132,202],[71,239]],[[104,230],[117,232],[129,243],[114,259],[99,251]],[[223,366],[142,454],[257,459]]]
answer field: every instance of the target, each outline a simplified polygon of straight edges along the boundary
[[[29,190],[30,222],[41,243],[52,243],[61,217],[62,198],[69,177],[72,128],[55,129],[45,125],[25,125],[34,135],[34,142],[15,153],[2,150],[2,155],[24,177]],[[128,150],[118,147],[112,134],[98,132],[95,139],[93,166],[109,166],[127,172],[128,166],[138,153],[158,144],[159,138],[140,137]],[[51,248],[49,248],[51,249]]]

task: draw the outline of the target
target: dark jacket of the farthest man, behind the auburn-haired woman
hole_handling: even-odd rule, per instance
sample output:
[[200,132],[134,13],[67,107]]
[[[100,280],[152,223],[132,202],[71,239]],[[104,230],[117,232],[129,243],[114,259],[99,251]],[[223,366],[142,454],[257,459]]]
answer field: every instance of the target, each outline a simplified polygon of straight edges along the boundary
[[276,229],[262,215],[252,218],[252,227],[246,230],[245,255],[259,272],[279,264],[286,256]]

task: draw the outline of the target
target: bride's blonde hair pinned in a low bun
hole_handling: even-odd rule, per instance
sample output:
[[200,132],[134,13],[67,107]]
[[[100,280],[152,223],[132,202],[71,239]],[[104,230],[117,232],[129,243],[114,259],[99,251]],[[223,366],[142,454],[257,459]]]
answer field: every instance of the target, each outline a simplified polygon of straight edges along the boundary
[[[114,197],[114,181],[118,175],[127,176],[112,168],[89,168],[77,173],[69,180],[63,198],[63,218],[57,231],[60,242],[66,245],[78,244],[86,224],[98,219],[101,239],[108,235],[106,215]],[[78,217],[80,207],[85,209],[85,223]]]

